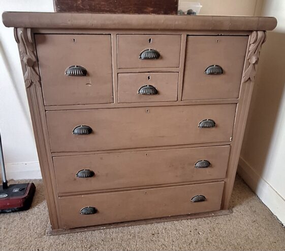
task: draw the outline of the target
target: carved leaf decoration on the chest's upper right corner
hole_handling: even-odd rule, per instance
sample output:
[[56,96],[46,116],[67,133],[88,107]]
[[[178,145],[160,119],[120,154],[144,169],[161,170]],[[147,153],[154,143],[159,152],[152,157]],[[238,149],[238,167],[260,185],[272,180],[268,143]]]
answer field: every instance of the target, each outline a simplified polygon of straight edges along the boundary
[[252,82],[254,82],[261,46],[265,42],[265,40],[266,40],[266,32],[264,31],[252,32],[249,40],[249,52],[247,55],[249,66],[243,74],[242,82],[246,82],[249,79]]

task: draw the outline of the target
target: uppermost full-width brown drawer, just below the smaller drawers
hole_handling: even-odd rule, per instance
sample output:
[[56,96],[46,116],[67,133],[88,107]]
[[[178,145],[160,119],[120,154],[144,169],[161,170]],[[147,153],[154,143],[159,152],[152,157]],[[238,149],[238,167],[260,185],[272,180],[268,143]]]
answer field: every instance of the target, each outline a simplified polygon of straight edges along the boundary
[[46,118],[52,152],[86,152],[228,142],[235,110],[236,104],[56,110]]

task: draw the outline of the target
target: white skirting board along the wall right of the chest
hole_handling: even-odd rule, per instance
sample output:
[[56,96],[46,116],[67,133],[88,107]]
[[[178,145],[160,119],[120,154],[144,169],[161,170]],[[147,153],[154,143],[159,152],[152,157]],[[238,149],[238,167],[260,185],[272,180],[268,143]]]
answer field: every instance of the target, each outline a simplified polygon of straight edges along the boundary
[[285,226],[285,198],[263,179],[242,157],[239,158],[238,174],[261,201]]

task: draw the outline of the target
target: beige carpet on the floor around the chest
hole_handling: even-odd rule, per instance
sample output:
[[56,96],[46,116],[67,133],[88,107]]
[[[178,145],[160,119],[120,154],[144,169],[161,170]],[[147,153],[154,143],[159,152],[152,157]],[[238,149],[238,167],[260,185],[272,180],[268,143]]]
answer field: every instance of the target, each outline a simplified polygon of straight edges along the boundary
[[48,236],[41,180],[33,207],[0,214],[0,250],[285,250],[285,229],[237,177],[233,214]]

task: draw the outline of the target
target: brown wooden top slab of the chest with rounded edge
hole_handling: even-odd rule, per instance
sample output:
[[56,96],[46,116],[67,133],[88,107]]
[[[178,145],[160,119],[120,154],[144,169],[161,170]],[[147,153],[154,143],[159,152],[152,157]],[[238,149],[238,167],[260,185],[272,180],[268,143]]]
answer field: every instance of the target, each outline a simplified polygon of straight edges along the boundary
[[139,29],[204,31],[271,31],[274,17],[178,16],[48,12],[4,12],[7,27],[65,29]]

